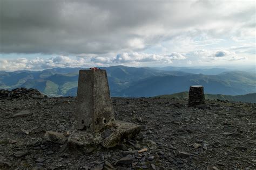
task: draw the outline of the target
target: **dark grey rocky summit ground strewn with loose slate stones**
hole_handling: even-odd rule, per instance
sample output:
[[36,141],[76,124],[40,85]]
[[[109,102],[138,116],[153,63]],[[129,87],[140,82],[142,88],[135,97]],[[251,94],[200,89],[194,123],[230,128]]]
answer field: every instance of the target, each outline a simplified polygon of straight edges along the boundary
[[45,131],[74,129],[73,97],[0,99],[0,169],[256,168],[256,104],[206,101],[199,109],[172,98],[112,100],[116,119],[142,131],[106,149],[45,140]]

